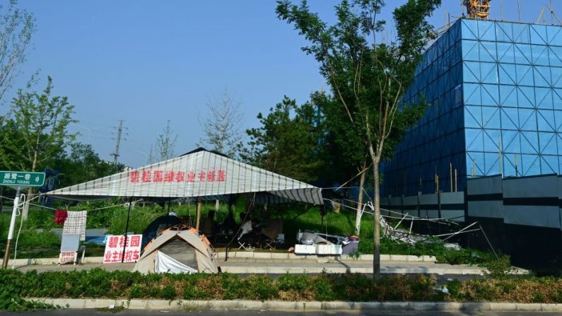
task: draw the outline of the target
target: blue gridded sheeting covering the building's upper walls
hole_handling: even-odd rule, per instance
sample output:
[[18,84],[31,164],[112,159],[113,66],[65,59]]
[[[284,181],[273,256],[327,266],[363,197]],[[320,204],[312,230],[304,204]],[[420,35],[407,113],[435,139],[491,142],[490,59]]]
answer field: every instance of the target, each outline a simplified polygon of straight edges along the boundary
[[[456,21],[418,66],[406,103],[431,103],[390,163],[385,195],[462,190],[467,177],[559,173],[562,28]],[[451,181],[452,178],[452,181]]]

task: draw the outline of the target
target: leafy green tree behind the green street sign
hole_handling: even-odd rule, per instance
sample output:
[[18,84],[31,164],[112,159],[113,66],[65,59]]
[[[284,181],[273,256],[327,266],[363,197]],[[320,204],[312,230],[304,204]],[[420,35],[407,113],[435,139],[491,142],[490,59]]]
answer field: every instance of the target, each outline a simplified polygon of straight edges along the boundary
[[[36,171],[45,168],[59,156],[66,145],[74,140],[67,127],[76,122],[72,118],[74,105],[68,98],[51,96],[52,78],[47,77],[47,87],[42,93],[18,91],[11,107],[11,122],[5,125],[11,131],[1,133],[0,159],[4,166],[13,170]],[[11,134],[18,134],[11,139]],[[33,188],[28,192],[31,197]],[[23,209],[27,217],[29,204]]]

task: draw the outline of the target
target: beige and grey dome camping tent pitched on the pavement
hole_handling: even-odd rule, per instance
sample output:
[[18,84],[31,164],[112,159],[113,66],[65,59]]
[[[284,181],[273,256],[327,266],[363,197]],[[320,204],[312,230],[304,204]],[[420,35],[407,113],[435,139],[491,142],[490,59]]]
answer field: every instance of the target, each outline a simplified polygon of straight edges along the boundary
[[133,271],[141,273],[218,273],[209,240],[197,230],[168,228],[144,248]]

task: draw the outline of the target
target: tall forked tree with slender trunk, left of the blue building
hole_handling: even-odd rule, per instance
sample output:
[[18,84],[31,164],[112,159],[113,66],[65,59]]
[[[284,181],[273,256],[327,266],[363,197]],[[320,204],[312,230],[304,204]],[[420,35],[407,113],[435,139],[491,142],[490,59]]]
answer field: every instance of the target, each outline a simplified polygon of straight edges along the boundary
[[382,0],[341,1],[335,7],[337,22],[327,25],[303,0],[300,6],[278,0],[278,17],[295,26],[310,46],[303,51],[320,63],[332,93],[344,108],[353,131],[361,139],[373,164],[374,259],[373,274],[380,277],[380,162],[392,151],[406,127],[416,122],[424,105],[402,105],[404,89],[433,27],[426,18],[440,0],[407,0],[394,10],[396,42],[377,42],[385,30],[378,19]]

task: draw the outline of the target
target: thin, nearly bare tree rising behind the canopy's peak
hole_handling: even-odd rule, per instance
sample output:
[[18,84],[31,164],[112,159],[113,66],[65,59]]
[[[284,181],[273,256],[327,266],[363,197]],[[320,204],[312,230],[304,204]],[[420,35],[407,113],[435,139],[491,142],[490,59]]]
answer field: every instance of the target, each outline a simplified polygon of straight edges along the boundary
[[206,103],[209,117],[200,123],[205,131],[205,136],[200,141],[202,146],[209,146],[209,149],[223,153],[230,158],[236,156],[242,136],[240,131],[241,104],[228,93],[226,88],[220,98],[213,98]]

